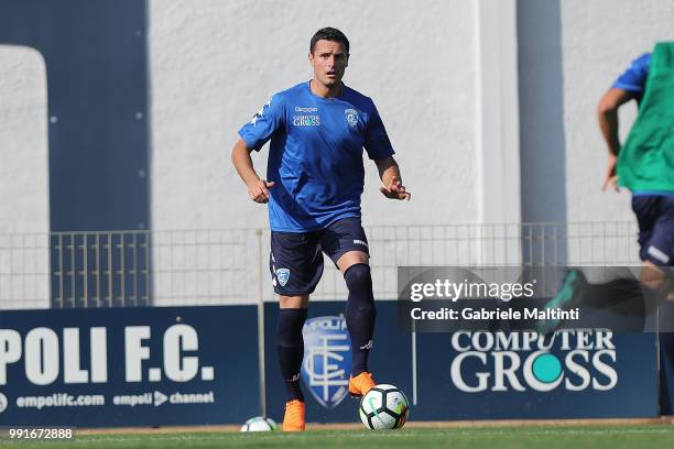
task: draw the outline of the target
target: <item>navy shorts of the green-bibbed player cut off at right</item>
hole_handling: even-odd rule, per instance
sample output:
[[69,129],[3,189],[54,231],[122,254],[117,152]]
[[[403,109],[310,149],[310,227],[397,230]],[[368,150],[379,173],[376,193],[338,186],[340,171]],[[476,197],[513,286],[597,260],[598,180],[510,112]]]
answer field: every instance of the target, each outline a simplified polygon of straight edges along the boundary
[[657,266],[674,266],[674,197],[634,195],[639,221],[639,256]]

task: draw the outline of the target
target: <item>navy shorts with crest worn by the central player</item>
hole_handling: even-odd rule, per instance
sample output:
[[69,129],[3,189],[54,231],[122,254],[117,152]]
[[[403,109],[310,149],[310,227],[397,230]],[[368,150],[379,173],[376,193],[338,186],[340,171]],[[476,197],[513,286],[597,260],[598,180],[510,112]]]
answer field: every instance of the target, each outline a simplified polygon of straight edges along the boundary
[[312,294],[323,275],[322,253],[337,265],[348,251],[369,254],[360,218],[343,218],[318,231],[272,231],[269,270],[274,292],[283,296]]

